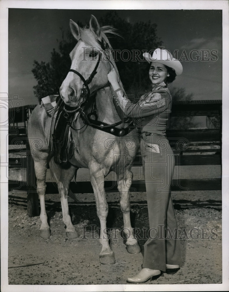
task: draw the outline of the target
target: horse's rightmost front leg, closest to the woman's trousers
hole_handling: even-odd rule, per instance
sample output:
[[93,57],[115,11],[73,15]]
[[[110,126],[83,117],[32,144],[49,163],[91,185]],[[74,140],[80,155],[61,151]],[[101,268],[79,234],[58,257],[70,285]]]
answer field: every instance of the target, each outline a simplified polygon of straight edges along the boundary
[[130,221],[130,196],[129,189],[131,187],[133,173],[126,169],[124,173],[117,173],[118,190],[120,193],[120,206],[123,213],[124,228],[126,235],[126,249],[129,253],[140,253],[141,248],[133,234],[133,228]]

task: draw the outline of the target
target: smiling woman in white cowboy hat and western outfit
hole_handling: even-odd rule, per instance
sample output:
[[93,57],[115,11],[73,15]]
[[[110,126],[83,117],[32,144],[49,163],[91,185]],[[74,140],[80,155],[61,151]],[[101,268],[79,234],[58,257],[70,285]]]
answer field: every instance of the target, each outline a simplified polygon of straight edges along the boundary
[[171,199],[171,181],[174,171],[174,154],[166,139],[172,98],[167,84],[183,71],[181,63],[171,54],[157,48],[152,57],[143,54],[150,63],[149,77],[152,91],[133,104],[119,88],[114,70],[107,75],[114,90],[114,103],[131,117],[141,131],[141,157],[146,183],[150,232],[144,245],[142,270],[131,283],[158,278],[162,272],[174,274],[181,264],[181,246],[176,239],[177,222]]

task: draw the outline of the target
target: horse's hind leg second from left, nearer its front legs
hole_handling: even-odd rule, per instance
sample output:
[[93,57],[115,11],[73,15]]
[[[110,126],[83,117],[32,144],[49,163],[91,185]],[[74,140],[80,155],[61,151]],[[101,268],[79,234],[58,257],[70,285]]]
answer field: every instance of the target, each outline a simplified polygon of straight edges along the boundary
[[66,225],[66,236],[71,239],[77,238],[77,232],[74,225],[72,224],[72,220],[70,217],[67,195],[69,192],[70,182],[74,176],[74,173],[75,173],[74,166],[70,166],[70,168],[68,169],[62,169],[60,180],[58,182],[58,191],[60,194],[63,222]]

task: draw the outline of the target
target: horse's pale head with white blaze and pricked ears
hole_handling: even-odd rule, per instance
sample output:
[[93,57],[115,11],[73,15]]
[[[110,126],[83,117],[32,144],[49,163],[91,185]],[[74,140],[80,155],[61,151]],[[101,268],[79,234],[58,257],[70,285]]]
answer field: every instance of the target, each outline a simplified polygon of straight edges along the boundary
[[66,105],[78,107],[87,101],[91,93],[108,84],[107,74],[112,65],[117,70],[105,34],[115,33],[111,27],[100,28],[93,15],[89,28],[81,29],[70,20],[70,29],[78,42],[70,53],[72,65],[60,87],[60,96]]

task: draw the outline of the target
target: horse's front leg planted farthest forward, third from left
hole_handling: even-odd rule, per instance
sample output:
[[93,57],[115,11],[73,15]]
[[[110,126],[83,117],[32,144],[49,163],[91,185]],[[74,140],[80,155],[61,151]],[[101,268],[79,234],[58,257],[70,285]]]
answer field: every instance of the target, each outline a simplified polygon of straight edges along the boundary
[[94,190],[96,200],[97,215],[100,220],[100,243],[102,244],[102,251],[99,258],[101,264],[114,264],[114,253],[109,246],[109,238],[107,235],[107,214],[108,204],[104,190],[104,174],[103,170],[98,170],[95,165],[89,167],[91,177],[91,185]]

